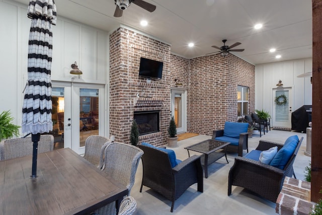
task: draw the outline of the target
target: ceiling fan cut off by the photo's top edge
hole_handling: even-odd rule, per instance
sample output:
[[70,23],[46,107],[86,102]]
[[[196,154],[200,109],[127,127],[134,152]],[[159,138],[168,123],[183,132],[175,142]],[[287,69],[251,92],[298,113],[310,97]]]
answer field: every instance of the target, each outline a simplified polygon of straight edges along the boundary
[[131,3],[147,10],[148,12],[155,11],[156,6],[150,3],[144,2],[143,0],[114,0],[116,5],[114,17],[121,17],[123,11],[131,5]]

